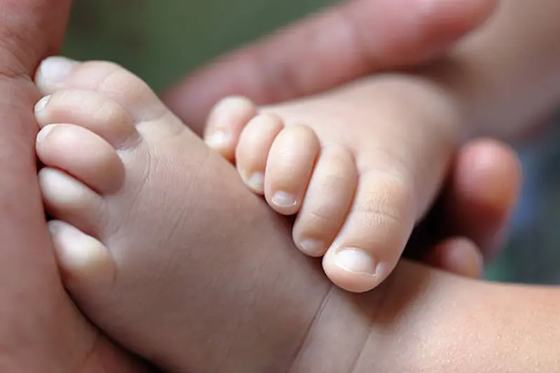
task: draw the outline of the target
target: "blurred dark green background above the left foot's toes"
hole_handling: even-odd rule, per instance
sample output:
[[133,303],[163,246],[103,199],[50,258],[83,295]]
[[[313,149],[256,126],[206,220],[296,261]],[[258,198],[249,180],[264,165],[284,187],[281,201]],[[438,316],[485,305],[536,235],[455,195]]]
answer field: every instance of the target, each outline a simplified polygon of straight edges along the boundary
[[111,59],[160,90],[334,0],[74,0],[64,52]]

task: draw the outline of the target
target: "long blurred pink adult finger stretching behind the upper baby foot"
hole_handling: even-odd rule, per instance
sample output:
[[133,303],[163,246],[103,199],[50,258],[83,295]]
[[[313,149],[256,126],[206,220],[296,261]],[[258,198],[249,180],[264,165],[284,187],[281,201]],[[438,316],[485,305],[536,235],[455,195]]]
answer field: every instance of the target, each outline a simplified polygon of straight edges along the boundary
[[273,104],[426,62],[477,29],[497,2],[346,1],[217,59],[164,97],[201,134],[210,108],[231,94]]

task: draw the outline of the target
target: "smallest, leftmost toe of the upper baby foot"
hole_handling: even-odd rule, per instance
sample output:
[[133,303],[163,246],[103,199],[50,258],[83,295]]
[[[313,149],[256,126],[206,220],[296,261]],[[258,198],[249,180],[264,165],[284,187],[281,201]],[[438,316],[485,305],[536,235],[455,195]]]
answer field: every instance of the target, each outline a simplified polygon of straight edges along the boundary
[[207,146],[232,161],[243,128],[257,115],[257,106],[245,97],[227,97],[212,108],[204,132]]

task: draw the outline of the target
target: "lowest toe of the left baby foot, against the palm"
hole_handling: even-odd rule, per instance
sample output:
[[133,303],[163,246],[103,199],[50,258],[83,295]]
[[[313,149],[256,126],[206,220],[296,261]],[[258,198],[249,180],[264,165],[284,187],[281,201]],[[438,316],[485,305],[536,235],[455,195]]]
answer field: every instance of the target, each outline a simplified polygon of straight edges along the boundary
[[64,286],[77,299],[99,298],[109,293],[116,264],[97,239],[60,220],[48,223]]

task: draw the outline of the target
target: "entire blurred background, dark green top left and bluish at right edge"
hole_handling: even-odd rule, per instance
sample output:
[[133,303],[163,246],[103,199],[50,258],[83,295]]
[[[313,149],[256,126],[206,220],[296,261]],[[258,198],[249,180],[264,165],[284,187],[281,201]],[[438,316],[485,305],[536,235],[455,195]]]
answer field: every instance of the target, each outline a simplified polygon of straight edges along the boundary
[[[64,54],[123,64],[161,90],[217,55],[336,0],[74,0]],[[526,185],[500,281],[560,283],[560,131],[521,153]]]

